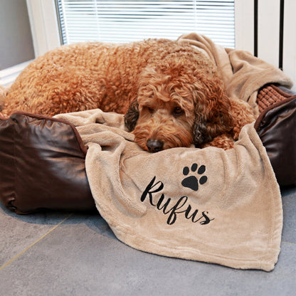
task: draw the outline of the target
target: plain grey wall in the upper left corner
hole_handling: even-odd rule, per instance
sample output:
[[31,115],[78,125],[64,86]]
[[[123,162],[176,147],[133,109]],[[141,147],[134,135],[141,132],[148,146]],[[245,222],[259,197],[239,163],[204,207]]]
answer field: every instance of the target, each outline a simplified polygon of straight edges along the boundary
[[0,70],[34,57],[26,0],[0,0]]

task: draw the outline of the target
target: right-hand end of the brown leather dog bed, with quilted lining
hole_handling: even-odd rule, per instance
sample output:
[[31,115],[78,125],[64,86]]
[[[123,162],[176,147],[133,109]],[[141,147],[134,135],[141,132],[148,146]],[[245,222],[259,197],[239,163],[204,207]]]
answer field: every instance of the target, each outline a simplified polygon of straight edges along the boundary
[[296,184],[296,93],[267,85],[259,91],[255,129],[265,146],[280,186]]

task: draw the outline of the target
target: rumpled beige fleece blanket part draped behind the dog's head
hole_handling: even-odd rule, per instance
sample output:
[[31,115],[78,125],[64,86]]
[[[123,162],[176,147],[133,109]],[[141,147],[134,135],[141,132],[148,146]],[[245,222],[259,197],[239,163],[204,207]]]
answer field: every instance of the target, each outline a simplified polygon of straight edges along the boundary
[[248,102],[256,116],[259,115],[256,99],[260,88],[268,83],[292,88],[292,80],[282,70],[248,51],[223,48],[210,38],[196,33],[182,35],[177,41],[190,43],[203,51],[217,65],[228,96]]

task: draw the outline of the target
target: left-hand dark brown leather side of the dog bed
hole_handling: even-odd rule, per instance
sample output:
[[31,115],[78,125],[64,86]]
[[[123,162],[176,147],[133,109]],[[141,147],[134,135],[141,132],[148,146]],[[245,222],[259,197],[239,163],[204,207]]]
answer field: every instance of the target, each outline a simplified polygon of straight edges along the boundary
[[0,120],[0,200],[16,213],[95,209],[85,174],[86,147],[75,127],[16,113]]

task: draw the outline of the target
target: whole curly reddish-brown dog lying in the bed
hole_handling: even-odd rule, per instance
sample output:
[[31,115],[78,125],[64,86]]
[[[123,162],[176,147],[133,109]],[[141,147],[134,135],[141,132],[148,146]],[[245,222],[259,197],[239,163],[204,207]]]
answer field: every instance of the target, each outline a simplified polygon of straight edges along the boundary
[[226,96],[206,56],[165,39],[49,51],[18,76],[4,114],[53,116],[95,108],[125,114],[135,142],[149,152],[192,143],[229,149],[254,120],[247,103]]

